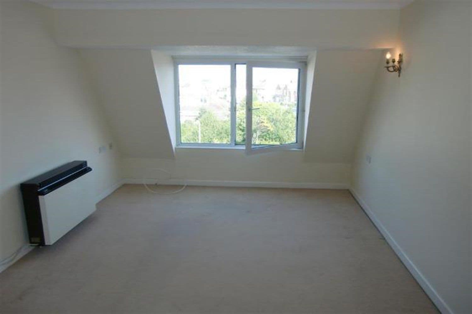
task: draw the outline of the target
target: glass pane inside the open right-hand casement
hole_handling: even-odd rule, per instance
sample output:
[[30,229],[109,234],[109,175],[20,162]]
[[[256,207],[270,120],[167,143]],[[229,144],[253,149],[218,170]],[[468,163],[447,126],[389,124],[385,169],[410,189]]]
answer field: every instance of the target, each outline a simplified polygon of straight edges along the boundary
[[296,143],[298,71],[253,68],[253,145]]

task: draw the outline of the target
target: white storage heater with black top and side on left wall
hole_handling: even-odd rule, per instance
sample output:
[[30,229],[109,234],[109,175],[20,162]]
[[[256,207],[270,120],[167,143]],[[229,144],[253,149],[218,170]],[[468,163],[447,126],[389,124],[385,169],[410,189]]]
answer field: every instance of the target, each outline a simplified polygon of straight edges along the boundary
[[51,245],[95,211],[87,161],[72,161],[20,185],[32,244]]

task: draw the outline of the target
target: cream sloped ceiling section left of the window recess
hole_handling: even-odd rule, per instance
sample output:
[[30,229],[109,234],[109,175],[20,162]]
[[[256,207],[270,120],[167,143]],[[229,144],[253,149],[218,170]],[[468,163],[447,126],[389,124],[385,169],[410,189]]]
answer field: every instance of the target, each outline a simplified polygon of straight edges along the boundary
[[151,51],[82,49],[124,157],[172,159]]

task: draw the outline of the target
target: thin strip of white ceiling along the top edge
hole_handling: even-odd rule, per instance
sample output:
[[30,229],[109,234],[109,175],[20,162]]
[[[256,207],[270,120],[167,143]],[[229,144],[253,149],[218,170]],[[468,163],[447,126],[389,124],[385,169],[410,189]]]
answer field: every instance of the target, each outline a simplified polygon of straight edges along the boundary
[[32,0],[57,9],[399,9],[413,0]]

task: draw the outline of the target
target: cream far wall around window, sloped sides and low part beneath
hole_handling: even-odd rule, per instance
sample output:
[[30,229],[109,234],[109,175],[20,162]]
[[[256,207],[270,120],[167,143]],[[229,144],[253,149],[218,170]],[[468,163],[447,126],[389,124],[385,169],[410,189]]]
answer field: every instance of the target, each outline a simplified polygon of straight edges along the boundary
[[175,104],[169,56],[152,52],[151,59],[145,49],[82,51],[119,139],[128,182],[141,182],[149,169],[164,168],[192,182],[312,187],[348,186],[354,145],[381,55],[375,49],[329,50],[321,51],[316,63],[312,57],[309,75],[315,71],[314,85],[304,151],[247,156],[240,149],[177,148],[172,154]]

